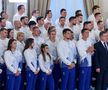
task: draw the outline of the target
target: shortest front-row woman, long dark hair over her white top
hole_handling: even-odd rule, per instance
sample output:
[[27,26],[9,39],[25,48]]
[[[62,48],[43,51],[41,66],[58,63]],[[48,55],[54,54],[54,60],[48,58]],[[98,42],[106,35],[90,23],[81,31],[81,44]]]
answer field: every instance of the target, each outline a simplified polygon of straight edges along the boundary
[[52,76],[53,59],[48,53],[48,45],[41,45],[41,54],[39,55],[40,65],[40,87],[39,90],[54,90],[54,79]]

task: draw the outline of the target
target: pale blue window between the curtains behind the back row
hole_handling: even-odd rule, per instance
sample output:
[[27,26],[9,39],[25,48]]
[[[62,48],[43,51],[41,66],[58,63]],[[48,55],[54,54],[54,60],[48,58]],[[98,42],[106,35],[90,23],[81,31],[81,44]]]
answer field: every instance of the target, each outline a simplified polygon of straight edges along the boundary
[[55,20],[60,16],[61,8],[65,8],[67,10],[67,18],[74,16],[75,11],[80,9],[84,15],[84,20],[87,19],[83,0],[51,0],[50,9],[53,13],[53,22],[55,22]]

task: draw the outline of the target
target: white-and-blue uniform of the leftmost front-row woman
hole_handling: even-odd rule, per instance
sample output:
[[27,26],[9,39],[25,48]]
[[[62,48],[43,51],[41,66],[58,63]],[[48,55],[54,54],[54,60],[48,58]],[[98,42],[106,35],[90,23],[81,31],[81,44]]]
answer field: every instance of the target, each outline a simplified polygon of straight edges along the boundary
[[[4,60],[7,67],[6,90],[20,90],[22,54],[17,50],[14,52],[7,50],[4,54]],[[20,72],[18,76],[15,75],[17,71]]]

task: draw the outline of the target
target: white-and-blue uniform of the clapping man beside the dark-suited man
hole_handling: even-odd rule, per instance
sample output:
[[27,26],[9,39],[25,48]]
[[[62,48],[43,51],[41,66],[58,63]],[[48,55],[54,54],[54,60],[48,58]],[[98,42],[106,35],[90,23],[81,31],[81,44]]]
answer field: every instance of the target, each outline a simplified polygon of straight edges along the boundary
[[91,54],[87,53],[86,50],[91,46],[89,40],[80,39],[77,42],[77,49],[80,56],[79,61],[79,90],[89,90],[91,82],[91,67],[92,59]]

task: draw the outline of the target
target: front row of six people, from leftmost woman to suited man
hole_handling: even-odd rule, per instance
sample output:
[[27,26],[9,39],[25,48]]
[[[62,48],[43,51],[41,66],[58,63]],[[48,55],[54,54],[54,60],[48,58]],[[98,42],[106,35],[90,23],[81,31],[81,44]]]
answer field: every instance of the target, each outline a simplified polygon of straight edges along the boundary
[[[53,36],[55,36],[54,32],[52,33]],[[60,72],[60,90],[75,90],[77,63],[79,63],[78,90],[90,90],[92,55],[95,58],[94,63],[96,65],[96,72],[98,72],[98,84],[96,90],[106,90],[108,84],[107,80],[104,78],[105,76],[107,77],[108,68],[108,60],[106,60],[108,57],[108,45],[105,36],[106,32],[102,31],[100,33],[101,44],[96,43],[94,45],[95,48],[88,39],[89,30],[83,29],[81,33],[82,38],[77,42],[77,44],[75,44],[75,42],[70,40],[72,34],[71,30],[67,28],[64,29],[64,38],[57,44],[56,48],[51,48],[50,45],[54,45],[55,41],[53,41],[53,38],[50,38],[52,42],[48,41],[46,42],[47,44],[41,45],[40,55],[37,55],[37,52],[34,49],[34,39],[28,38],[26,40],[23,54],[16,49],[16,40],[10,39],[7,50],[4,53],[4,60],[7,67],[6,90],[21,89],[20,86],[23,81],[21,80],[23,79],[22,68],[24,63],[26,63],[26,90],[35,90],[35,88],[37,90],[58,90]],[[101,54],[101,49],[105,49],[103,54]],[[52,53],[49,53],[50,50],[52,50]],[[58,53],[58,56],[55,55],[56,53]],[[104,60],[102,60],[102,58]]]

